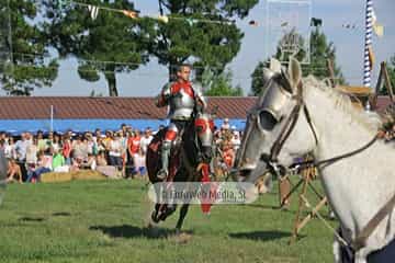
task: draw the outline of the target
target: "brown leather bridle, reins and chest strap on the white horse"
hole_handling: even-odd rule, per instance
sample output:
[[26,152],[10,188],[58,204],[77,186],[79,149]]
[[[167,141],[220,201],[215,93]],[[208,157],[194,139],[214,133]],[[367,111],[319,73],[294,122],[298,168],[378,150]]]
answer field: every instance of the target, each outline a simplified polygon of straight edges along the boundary
[[[281,129],[279,137],[275,139],[273,146],[271,147],[270,155],[263,153],[260,157],[260,159],[267,163],[267,165],[271,170],[271,172],[278,176],[285,175],[287,170],[294,170],[294,169],[301,169],[301,168],[312,168],[312,167],[319,169],[323,165],[328,167],[337,161],[356,156],[356,155],[364,151],[365,149],[371,147],[379,138],[379,136],[375,135],[373,137],[373,139],[370,140],[364,146],[362,146],[353,151],[340,155],[340,156],[336,156],[336,157],[320,160],[320,161],[308,160],[308,161],[303,161],[303,162],[296,162],[296,163],[291,164],[287,168],[284,168],[283,165],[278,163],[278,157],[279,157],[280,151],[281,151],[282,147],[284,146],[286,139],[290,137],[291,133],[295,128],[295,125],[300,117],[302,107],[303,107],[303,112],[305,114],[306,121],[308,123],[308,126],[311,127],[311,130],[314,135],[316,145],[318,145],[317,134],[314,129],[313,122],[312,122],[309,112],[307,110],[307,106],[303,101],[302,81],[300,81],[300,83],[297,84],[296,95],[294,95],[293,99],[296,100],[296,105],[292,108],[292,112],[291,112],[290,116],[287,117],[284,127]],[[371,233],[374,231],[374,229],[379,226],[379,224],[384,219],[384,217],[392,211],[394,206],[395,206],[395,195],[393,195],[390,198],[390,201],[387,201],[387,203],[373,216],[373,218],[371,218],[371,220],[366,224],[366,226],[362,229],[362,231],[356,237],[356,239],[351,241],[350,244],[345,240],[342,240],[342,241],[345,241],[346,244],[349,248],[351,248],[353,251],[358,251],[361,248],[363,248],[365,245],[368,238],[371,236]]]

